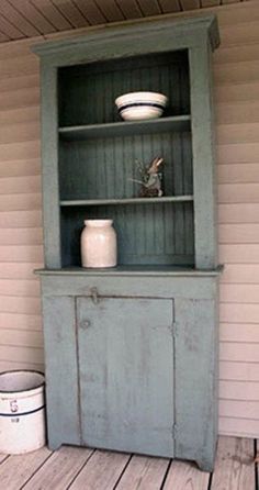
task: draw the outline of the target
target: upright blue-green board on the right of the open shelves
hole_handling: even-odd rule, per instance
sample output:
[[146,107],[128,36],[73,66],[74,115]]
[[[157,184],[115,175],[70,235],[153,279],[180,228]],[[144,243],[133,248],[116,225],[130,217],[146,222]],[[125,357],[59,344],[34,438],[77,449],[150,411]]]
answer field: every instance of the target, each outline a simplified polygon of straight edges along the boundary
[[193,191],[195,266],[217,266],[215,210],[215,145],[212,104],[211,49],[190,49],[191,116],[193,144]]

